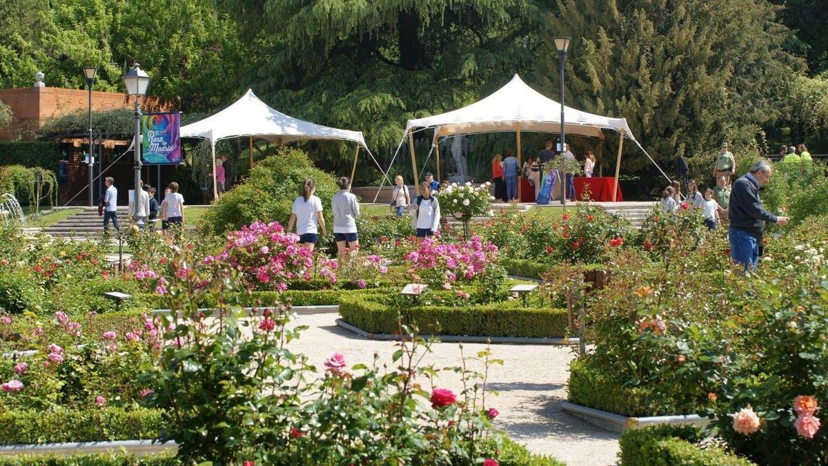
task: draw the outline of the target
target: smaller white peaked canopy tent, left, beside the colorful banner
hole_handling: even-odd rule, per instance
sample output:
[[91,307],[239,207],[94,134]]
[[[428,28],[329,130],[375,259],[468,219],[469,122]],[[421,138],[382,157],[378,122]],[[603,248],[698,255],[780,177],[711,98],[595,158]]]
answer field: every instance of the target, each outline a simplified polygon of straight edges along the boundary
[[[248,136],[250,138],[250,164],[253,165],[253,138],[263,138],[268,141],[289,143],[292,141],[303,141],[309,139],[339,139],[343,141],[354,141],[357,143],[354,153],[354,167],[351,169],[350,179],[353,181],[356,171],[359,148],[373,158],[373,154],[365,145],[365,138],[360,131],[349,131],[347,129],[329,128],[321,124],[310,123],[301,119],[293,118],[272,109],[259,100],[248,90],[241,99],[217,114],[188,124],[181,128],[181,138],[208,139],[213,154],[213,196],[217,197],[218,192],[215,182],[215,144],[222,139],[239,138]],[[374,163],[377,160],[374,159]],[[379,167],[379,163],[377,163]],[[380,172],[383,169],[380,167]]]

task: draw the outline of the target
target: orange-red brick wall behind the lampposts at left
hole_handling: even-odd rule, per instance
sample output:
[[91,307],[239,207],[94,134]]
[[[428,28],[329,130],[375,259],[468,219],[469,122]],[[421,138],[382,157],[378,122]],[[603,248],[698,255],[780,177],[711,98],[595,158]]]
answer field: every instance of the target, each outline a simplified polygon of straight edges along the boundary
[[[35,133],[48,119],[89,108],[89,92],[85,89],[62,89],[59,87],[27,87],[21,89],[0,89],[0,100],[7,104],[14,114],[12,124],[0,130],[0,141],[34,138]],[[132,100],[118,92],[92,91],[92,109],[99,111],[132,109]],[[165,111],[171,104],[149,96],[142,101],[142,108],[149,111]]]

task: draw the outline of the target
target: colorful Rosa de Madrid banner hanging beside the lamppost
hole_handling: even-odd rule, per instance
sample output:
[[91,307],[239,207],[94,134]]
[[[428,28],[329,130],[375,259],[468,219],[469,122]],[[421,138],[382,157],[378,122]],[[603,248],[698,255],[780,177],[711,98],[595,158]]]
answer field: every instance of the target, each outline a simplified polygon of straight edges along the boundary
[[144,114],[141,117],[144,163],[181,163],[181,127],[178,112]]

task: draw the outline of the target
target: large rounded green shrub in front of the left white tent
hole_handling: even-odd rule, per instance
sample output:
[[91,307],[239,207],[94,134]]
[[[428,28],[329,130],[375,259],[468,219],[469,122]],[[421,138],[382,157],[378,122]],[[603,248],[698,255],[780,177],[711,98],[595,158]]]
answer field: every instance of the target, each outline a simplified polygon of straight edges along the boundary
[[219,235],[257,220],[278,221],[287,226],[293,201],[300,195],[306,178],[315,180],[316,196],[325,209],[325,222],[333,230],[330,200],[339,190],[334,177],[315,168],[305,152],[288,147],[258,162],[246,182],[219,197],[204,216],[205,228]]

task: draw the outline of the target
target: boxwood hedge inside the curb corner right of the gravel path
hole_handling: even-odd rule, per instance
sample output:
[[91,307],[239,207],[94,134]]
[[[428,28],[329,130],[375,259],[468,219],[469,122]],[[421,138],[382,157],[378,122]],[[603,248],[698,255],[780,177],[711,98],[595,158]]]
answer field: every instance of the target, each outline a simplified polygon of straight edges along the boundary
[[643,386],[623,386],[611,371],[586,356],[570,362],[569,401],[625,416],[676,415],[667,401],[653,397]]

